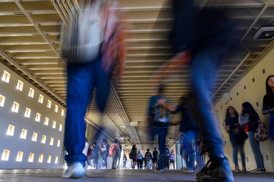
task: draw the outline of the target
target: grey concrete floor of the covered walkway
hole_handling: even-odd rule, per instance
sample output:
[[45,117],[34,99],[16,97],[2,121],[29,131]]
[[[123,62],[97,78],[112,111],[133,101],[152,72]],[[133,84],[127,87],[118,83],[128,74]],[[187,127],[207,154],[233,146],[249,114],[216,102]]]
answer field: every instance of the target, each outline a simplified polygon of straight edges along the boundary
[[[155,173],[153,170],[129,169],[88,169],[88,177],[82,179],[61,178],[62,169],[1,169],[0,182],[158,182],[158,181],[196,181],[194,173],[169,170],[164,173]],[[235,173],[235,182],[273,182],[274,173]]]

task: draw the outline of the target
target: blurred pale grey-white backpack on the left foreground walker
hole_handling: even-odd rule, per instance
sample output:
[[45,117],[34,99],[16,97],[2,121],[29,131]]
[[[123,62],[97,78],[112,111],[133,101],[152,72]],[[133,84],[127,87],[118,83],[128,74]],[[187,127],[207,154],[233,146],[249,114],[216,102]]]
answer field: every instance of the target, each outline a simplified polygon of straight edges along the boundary
[[75,16],[61,31],[61,52],[68,62],[91,62],[98,57],[104,38],[104,3],[100,0],[85,3],[82,15],[72,9]]

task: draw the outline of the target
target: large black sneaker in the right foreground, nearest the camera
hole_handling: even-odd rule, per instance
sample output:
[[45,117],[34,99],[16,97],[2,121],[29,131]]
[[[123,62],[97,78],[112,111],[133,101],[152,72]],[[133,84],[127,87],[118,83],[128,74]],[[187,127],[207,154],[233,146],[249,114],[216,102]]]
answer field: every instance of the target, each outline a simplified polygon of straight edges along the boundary
[[196,174],[197,181],[234,181],[228,159],[209,159],[206,166]]

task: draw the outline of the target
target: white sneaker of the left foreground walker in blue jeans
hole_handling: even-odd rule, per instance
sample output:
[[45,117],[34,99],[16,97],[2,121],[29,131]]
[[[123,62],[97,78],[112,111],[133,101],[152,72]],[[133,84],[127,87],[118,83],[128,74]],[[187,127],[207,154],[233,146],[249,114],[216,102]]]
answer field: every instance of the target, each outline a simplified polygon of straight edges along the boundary
[[84,170],[82,163],[78,162],[78,163],[69,165],[68,169],[66,169],[63,172],[62,177],[63,178],[71,178],[71,179],[85,177],[85,170]]

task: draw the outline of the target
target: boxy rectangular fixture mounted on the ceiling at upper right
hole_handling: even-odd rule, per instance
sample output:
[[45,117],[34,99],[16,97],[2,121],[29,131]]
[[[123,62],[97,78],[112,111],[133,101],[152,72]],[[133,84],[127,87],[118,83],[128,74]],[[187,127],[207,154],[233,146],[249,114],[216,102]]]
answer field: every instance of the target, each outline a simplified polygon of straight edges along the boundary
[[274,39],[274,26],[264,25],[259,28],[257,33],[253,37],[254,40],[272,40]]

